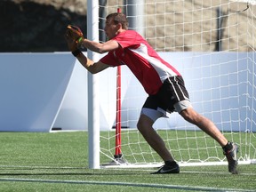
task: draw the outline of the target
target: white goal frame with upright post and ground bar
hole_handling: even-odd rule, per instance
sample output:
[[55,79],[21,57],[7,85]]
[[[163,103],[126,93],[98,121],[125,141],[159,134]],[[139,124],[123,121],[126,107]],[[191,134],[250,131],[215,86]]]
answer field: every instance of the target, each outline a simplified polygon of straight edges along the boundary
[[[239,2],[237,0],[236,2]],[[242,1],[251,4],[252,1]],[[116,5],[118,8],[118,5]],[[238,10],[239,11],[239,10]],[[243,10],[241,10],[243,11]],[[87,1],[87,38],[93,41],[99,41],[99,1],[88,0]],[[88,50],[88,57],[92,60],[98,60],[99,55]],[[254,85],[255,86],[255,85]],[[99,169],[100,168],[100,99],[98,95],[99,92],[99,84],[98,84],[98,76],[89,75],[88,76],[88,138],[89,138],[89,168]],[[253,118],[253,116],[252,116]],[[254,120],[252,119],[254,122]],[[254,122],[255,124],[255,122]],[[255,147],[255,146],[254,146]],[[255,148],[254,148],[255,149]],[[103,153],[104,154],[104,153]],[[109,160],[113,160],[116,162],[116,165],[103,165],[101,167],[157,167],[162,163],[152,163],[152,164],[119,164],[118,161],[113,156],[109,156],[108,154],[104,154],[109,157]],[[254,155],[255,157],[255,155]],[[106,163],[106,162],[105,162]],[[193,163],[180,163],[180,166],[190,166],[190,165],[212,165],[212,164],[227,164],[226,161],[220,162],[193,162]],[[245,159],[239,161],[239,164],[256,164],[256,159]]]

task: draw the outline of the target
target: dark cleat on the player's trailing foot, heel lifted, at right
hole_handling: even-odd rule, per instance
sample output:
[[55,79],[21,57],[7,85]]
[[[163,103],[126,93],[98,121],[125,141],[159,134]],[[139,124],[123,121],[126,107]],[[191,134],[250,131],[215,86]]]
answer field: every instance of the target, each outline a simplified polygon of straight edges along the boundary
[[237,166],[237,153],[238,153],[238,146],[236,143],[230,143],[232,145],[232,149],[224,150],[223,154],[227,157],[228,160],[228,172],[232,172],[232,174],[237,174],[236,166]]

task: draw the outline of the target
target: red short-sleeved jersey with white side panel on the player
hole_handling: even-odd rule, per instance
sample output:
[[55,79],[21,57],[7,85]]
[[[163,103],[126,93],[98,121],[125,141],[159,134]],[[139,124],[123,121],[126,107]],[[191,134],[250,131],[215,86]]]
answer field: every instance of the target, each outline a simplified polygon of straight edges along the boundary
[[156,94],[169,76],[180,76],[136,31],[126,30],[112,40],[120,44],[120,47],[108,52],[100,61],[113,67],[126,65],[148,94]]

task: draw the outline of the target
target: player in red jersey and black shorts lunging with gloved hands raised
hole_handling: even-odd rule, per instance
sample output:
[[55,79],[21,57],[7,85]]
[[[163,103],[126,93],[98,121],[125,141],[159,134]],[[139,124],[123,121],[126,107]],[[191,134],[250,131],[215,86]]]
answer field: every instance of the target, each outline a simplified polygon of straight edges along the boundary
[[[108,41],[104,44],[84,38],[82,31],[68,26],[65,34],[69,50],[92,74],[106,68],[126,65],[148,93],[137,124],[151,148],[164,160],[164,165],[153,173],[179,173],[180,167],[165,147],[164,140],[153,129],[160,117],[168,117],[176,111],[191,124],[195,124],[220,143],[223,154],[228,159],[228,172],[237,173],[236,143],[229,142],[211,120],[199,115],[190,103],[188,92],[179,71],[159,57],[148,42],[136,31],[128,30],[128,21],[124,13],[111,13],[106,18],[104,28]],[[108,52],[99,61],[86,58],[81,48],[92,52]]]

